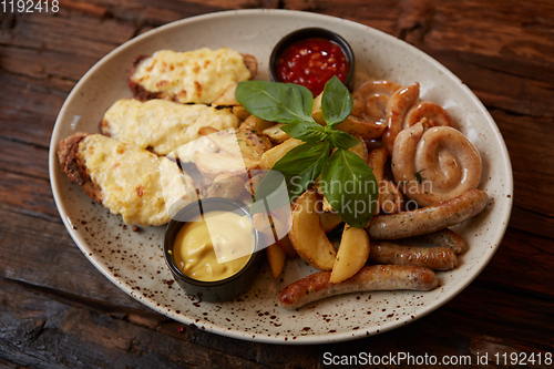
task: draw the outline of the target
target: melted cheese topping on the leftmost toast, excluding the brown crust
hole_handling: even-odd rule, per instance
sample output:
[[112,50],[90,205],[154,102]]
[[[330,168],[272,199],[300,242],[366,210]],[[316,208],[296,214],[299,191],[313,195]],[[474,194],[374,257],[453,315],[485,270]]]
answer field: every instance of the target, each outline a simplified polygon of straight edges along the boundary
[[161,157],[101,134],[86,136],[79,145],[78,156],[85,163],[92,182],[100,186],[102,205],[113,214],[121,214],[125,224],[158,226],[171,221],[165,197],[172,197],[168,194],[164,197]]

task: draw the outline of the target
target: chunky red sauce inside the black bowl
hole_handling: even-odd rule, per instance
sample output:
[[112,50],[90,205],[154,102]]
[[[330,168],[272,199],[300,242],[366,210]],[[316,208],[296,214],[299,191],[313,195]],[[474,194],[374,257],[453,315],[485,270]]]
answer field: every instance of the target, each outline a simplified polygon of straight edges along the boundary
[[301,84],[317,96],[331,76],[337,75],[343,82],[348,68],[337,43],[312,38],[295,42],[283,52],[277,60],[277,76],[280,82]]

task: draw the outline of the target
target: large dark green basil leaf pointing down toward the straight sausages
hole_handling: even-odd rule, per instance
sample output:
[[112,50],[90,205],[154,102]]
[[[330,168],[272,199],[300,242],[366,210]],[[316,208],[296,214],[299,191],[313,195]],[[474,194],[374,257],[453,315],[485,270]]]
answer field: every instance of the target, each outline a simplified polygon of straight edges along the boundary
[[347,150],[337,150],[327,158],[319,184],[329,205],[349,226],[363,228],[369,224],[379,189],[363,160]]

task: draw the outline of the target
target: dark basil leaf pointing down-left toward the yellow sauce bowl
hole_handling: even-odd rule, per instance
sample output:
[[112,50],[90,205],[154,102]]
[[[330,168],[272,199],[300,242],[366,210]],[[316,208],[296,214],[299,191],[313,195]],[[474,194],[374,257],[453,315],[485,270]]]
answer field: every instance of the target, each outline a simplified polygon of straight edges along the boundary
[[286,153],[259,183],[255,201],[269,196],[279,186],[275,181],[276,175],[271,172],[279,172],[285,176],[289,199],[294,201],[319,176],[329,156],[329,143],[320,141],[301,144]]

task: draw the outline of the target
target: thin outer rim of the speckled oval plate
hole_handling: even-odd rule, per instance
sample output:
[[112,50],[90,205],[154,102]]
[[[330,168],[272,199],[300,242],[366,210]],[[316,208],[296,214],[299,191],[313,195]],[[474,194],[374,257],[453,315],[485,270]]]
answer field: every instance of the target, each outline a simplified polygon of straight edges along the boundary
[[[57,175],[59,172],[59,164],[58,160],[55,156],[55,145],[59,142],[60,137],[60,125],[62,117],[69,110],[69,106],[74,103],[76,99],[79,99],[79,92],[82,85],[85,83],[86,80],[93,78],[98,70],[105,63],[110,61],[111,58],[114,55],[124,52],[127,48],[131,48],[133,45],[136,45],[141,43],[144,39],[151,38],[157,32],[165,32],[165,31],[171,31],[172,29],[178,29],[185,23],[204,23],[204,22],[212,22],[216,21],[218,19],[227,18],[227,17],[235,17],[235,16],[252,16],[256,17],[258,14],[270,14],[275,16],[276,20],[278,20],[279,17],[297,17],[302,20],[311,20],[311,21],[317,21],[317,20],[322,20],[325,19],[326,21],[336,21],[336,22],[345,22],[348,24],[348,27],[353,27],[358,28],[360,32],[367,32],[367,34],[371,38],[377,38],[382,42],[386,43],[392,43],[398,48],[403,48],[407,50],[407,52],[410,52],[412,54],[417,54],[418,58],[424,60],[429,68],[433,68],[438,71],[441,72],[441,74],[444,74],[448,76],[452,83],[455,83],[459,85],[459,88],[463,89],[465,94],[471,99],[471,101],[475,104],[475,106],[479,107],[479,114],[481,114],[491,125],[493,129],[494,133],[494,140],[497,141],[500,144],[500,150],[501,150],[501,155],[503,158],[503,167],[502,171],[504,173],[504,180],[506,181],[504,183],[504,189],[503,192],[507,194],[509,199],[503,203],[504,208],[503,208],[503,218],[497,219],[497,224],[502,224],[503,226],[499,227],[499,232],[495,234],[494,239],[491,239],[491,243],[495,245],[495,247],[488,248],[486,252],[482,255],[482,258],[479,260],[479,268],[473,269],[471,275],[466,275],[465,278],[462,280],[462,283],[459,283],[455,288],[450,288],[448,291],[444,291],[443,295],[441,296],[440,299],[434,300],[432,304],[428,304],[421,308],[418,309],[418,315],[416,319],[419,319],[429,312],[435,310],[440,306],[444,305],[449,300],[451,300],[454,296],[456,296],[459,293],[461,293],[468,285],[471,284],[471,281],[476,278],[476,276],[484,269],[484,267],[488,265],[490,259],[493,257],[494,253],[497,249],[497,246],[500,245],[504,233],[507,227],[507,222],[510,219],[511,215],[511,209],[512,209],[512,194],[513,194],[513,177],[512,177],[512,166],[510,162],[510,156],[507,154],[507,148],[505,146],[505,143],[503,141],[502,134],[500,133],[500,130],[497,129],[496,124],[494,123],[492,116],[489,114],[486,109],[483,106],[483,104],[479,101],[479,99],[473,94],[473,92],[461,82],[460,79],[458,79],[452,72],[450,72],[445,66],[440,64],[438,61],[432,59],[431,57],[427,55],[422,51],[416,49],[414,47],[410,45],[409,43],[401,41],[399,39],[396,39],[392,35],[389,35],[384,32],[375,30],[372,28],[369,28],[367,25],[356,23],[352,21],[348,21],[345,19],[340,18],[335,18],[330,16],[324,16],[324,14],[317,14],[317,13],[309,13],[309,12],[301,12],[301,11],[291,11],[291,10],[265,10],[265,9],[255,9],[255,10],[233,10],[233,11],[223,11],[223,12],[215,12],[215,13],[208,13],[204,16],[197,16],[197,17],[192,17],[187,18],[181,21],[176,21],[163,27],[160,27],[157,29],[154,29],[150,32],[146,32],[135,39],[130,40],[129,42],[122,44],[121,47],[116,48],[112,52],[110,52],[106,57],[104,57],[102,60],[100,60],[89,72],[85,73],[85,75],[81,79],[81,81],[74,86],[72,92],[69,94],[66,101],[64,102],[58,120],[54,124],[54,129],[52,132],[51,136],[51,142],[50,142],[50,153],[49,153],[49,174],[51,178],[51,187],[52,187],[52,193],[54,197],[54,202],[57,204],[57,207],[59,209],[60,216],[62,218],[62,222],[64,226],[66,227],[68,232],[70,233],[71,237],[75,242],[75,244],[81,248],[83,254],[89,258],[89,260],[107,278],[110,279],[114,285],[116,285],[119,288],[124,290],[126,294],[132,296],[133,298],[136,299],[136,296],[132,294],[132,290],[130,286],[122,284],[116,276],[114,276],[110,270],[104,268],[102,265],[96,263],[88,253],[85,253],[85,245],[83,245],[83,239],[78,237],[78,235],[73,232],[71,232],[73,224],[71,219],[69,218],[66,214],[66,204],[63,203],[63,194],[60,193],[59,187],[59,181],[60,176]],[[163,309],[156,307],[155,301],[152,299],[142,299],[140,303],[148,306],[153,310],[156,310],[163,315],[168,316],[170,318],[177,319],[184,324],[194,324],[193,319],[189,319],[187,317],[182,317],[182,316],[174,316],[173,314],[167,314]],[[298,312],[299,315],[301,312]],[[413,321],[413,319],[409,319],[408,317],[404,317],[400,320],[396,321],[387,321],[382,325],[380,325],[377,329],[377,327],[362,327],[365,329],[359,329],[358,332],[351,332],[351,331],[346,331],[346,332],[336,332],[336,334],[324,334],[324,335],[316,335],[316,336],[305,336],[305,337],[298,337],[297,340],[288,340],[284,341],[283,337],[277,338],[277,337],[264,337],[264,336],[258,336],[258,337],[252,337],[249,334],[245,334],[240,330],[227,330],[225,327],[207,327],[205,330],[223,335],[226,337],[232,337],[232,338],[237,338],[237,339],[244,339],[244,340],[252,340],[252,341],[260,341],[260,342],[270,342],[270,344],[291,344],[291,345],[300,345],[300,344],[326,344],[326,342],[332,342],[332,341],[343,341],[343,340],[351,340],[360,337],[366,337],[367,335],[371,334],[380,334],[384,332],[394,328],[398,328],[409,321]]]

